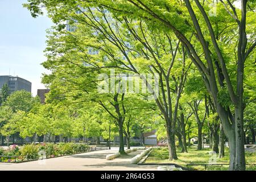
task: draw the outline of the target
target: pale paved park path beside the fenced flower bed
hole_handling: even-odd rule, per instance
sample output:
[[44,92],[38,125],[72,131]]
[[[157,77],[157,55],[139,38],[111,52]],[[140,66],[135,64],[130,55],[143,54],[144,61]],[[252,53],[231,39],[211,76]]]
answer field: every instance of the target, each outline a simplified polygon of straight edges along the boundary
[[143,150],[131,152],[113,160],[106,160],[106,155],[118,152],[117,147],[111,150],[93,151],[83,154],[63,156],[46,160],[36,160],[26,163],[0,163],[0,171],[4,170],[49,170],[49,171],[154,171],[158,166],[131,164],[130,160]]

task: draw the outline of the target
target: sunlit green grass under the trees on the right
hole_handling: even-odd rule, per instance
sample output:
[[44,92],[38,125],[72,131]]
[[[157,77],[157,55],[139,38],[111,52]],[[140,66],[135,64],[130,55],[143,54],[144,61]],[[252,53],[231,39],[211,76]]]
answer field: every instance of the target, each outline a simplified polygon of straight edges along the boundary
[[[181,153],[180,148],[177,148],[177,160],[168,160],[168,148],[154,148],[150,156],[148,156],[146,163],[175,163],[180,166],[186,167],[186,164],[228,164],[229,163],[229,150],[225,148],[225,157],[218,158],[214,155],[210,155],[210,148],[203,148],[203,150],[197,151],[196,146],[188,148],[188,153]],[[245,153],[246,164],[256,163],[256,153]],[[207,166],[207,170],[228,170],[229,166]],[[205,170],[204,166],[192,166],[194,170]],[[256,171],[256,166],[246,166],[246,170]]]

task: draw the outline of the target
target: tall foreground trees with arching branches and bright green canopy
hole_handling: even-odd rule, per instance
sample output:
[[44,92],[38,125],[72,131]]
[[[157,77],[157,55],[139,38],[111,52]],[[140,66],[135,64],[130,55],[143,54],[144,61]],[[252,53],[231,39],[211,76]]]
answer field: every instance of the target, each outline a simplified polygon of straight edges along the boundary
[[[43,63],[52,71],[43,78],[49,102],[80,103],[82,110],[93,103],[98,115],[103,109],[119,129],[121,153],[123,134],[129,138],[130,122],[141,118],[143,124],[150,119],[159,136],[164,131],[170,160],[177,159],[175,138],[186,152],[195,128],[198,150],[208,133],[214,151],[220,142],[222,156],[226,137],[230,170],[244,170],[245,133],[255,142],[256,3],[236,3],[219,1],[213,9],[199,0],[30,0],[24,6],[36,17],[43,5],[56,23]],[[75,31],[65,30],[65,21]],[[110,85],[99,94],[97,76],[113,76],[110,68],[123,77],[138,75],[150,94],[118,92],[125,88],[122,77],[117,90]],[[159,77],[159,94],[144,73]]]

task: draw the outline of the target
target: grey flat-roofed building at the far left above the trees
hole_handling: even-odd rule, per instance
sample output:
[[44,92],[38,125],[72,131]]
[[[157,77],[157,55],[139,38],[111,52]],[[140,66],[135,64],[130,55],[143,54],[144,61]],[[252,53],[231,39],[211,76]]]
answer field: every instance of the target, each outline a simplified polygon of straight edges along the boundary
[[31,93],[31,82],[18,76],[0,76],[0,89],[2,89],[5,84],[8,85],[10,93],[17,90],[26,90]]

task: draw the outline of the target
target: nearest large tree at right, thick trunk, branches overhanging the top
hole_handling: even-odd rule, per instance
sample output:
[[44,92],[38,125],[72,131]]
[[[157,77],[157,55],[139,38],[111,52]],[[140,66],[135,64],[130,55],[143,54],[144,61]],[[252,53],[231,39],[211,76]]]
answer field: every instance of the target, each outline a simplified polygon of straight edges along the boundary
[[[151,27],[173,31],[200,71],[212,97],[229,140],[230,170],[244,170],[243,80],[246,59],[251,59],[256,47],[253,22],[255,2],[241,0],[240,8],[235,7],[234,2],[218,2],[216,16],[207,13],[211,10],[210,3],[199,0],[30,0],[26,7],[31,10],[32,16],[36,16],[42,13],[39,7],[43,4],[60,28],[71,7],[73,10],[74,7],[103,6],[117,18],[125,15],[143,19],[150,22]],[[220,98],[226,100],[221,101]]]

